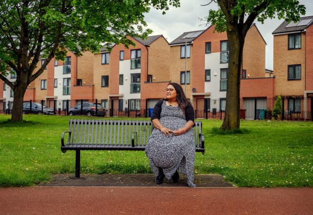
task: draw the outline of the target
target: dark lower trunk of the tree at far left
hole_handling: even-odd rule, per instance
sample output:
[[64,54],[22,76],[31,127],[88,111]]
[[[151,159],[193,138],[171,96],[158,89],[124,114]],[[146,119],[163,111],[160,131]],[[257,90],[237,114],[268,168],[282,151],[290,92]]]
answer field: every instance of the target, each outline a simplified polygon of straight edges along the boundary
[[22,121],[23,120],[23,100],[24,94],[26,91],[27,86],[16,86],[14,89],[14,101],[13,101],[13,108],[12,108],[12,121]]

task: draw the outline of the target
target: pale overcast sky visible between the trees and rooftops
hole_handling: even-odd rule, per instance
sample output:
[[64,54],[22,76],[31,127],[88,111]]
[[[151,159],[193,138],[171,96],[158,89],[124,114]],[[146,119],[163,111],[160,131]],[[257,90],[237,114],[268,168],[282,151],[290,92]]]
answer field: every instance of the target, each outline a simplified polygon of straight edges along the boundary
[[[306,6],[306,15],[313,16],[313,0],[299,0],[300,4]],[[209,0],[180,0],[180,7],[172,7],[162,15],[161,11],[152,9],[145,16],[148,27],[154,32],[152,35],[163,34],[170,43],[179,37],[183,32],[203,30],[206,28],[205,21],[200,18],[207,16],[209,9],[217,9],[217,3],[201,6]],[[273,35],[272,32],[282,23],[283,20],[266,20],[264,24],[255,21],[259,31],[264,37],[266,46],[266,68],[273,69]]]

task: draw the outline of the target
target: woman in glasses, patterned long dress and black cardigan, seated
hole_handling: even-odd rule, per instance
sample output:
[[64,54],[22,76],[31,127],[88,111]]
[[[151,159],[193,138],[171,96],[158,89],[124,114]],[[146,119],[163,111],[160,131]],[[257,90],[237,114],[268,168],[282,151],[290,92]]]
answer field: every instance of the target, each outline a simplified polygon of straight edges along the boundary
[[194,109],[177,83],[168,84],[166,99],[156,103],[151,116],[155,126],[146,147],[149,164],[156,175],[156,184],[164,177],[179,180],[179,172],[187,175],[189,187],[194,181],[195,144]]

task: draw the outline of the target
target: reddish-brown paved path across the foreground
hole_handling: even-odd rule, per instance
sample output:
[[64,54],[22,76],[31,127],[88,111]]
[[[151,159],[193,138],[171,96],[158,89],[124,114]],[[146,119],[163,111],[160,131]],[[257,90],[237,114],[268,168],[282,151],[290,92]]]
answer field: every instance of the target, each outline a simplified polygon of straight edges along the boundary
[[2,188],[0,214],[313,215],[313,188]]

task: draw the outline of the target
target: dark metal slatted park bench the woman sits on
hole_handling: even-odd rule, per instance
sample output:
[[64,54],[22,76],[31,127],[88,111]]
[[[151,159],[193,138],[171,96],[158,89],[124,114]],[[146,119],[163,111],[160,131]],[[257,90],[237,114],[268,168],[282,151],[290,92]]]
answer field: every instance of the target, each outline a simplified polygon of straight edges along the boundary
[[[196,121],[195,125],[196,151],[203,154],[202,124]],[[76,151],[75,177],[79,178],[81,150],[144,151],[153,128],[151,121],[69,120],[68,131],[62,133],[61,151]]]

